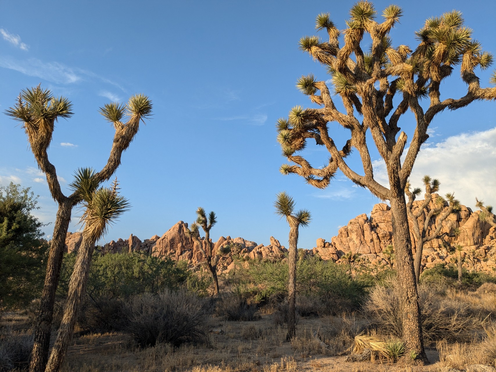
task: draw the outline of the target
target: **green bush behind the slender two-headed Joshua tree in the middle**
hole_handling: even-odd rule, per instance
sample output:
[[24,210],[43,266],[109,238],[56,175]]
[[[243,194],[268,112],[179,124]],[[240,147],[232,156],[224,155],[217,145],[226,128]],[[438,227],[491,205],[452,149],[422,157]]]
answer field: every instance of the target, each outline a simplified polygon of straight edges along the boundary
[[[251,261],[238,270],[234,281],[238,291],[253,303],[281,302],[287,295],[288,265],[281,261]],[[332,260],[307,257],[297,263],[298,294],[318,298],[327,313],[358,307],[365,289],[346,272],[346,267]]]

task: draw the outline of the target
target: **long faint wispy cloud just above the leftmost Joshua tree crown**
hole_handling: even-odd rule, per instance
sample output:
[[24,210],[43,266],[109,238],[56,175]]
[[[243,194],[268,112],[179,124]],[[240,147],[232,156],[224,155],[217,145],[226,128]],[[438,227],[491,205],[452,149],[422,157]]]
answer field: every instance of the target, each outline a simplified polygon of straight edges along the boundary
[[82,79],[76,71],[59,62],[42,62],[36,58],[16,61],[9,57],[0,57],[0,66],[21,72],[28,76],[40,77],[58,84],[75,83]]

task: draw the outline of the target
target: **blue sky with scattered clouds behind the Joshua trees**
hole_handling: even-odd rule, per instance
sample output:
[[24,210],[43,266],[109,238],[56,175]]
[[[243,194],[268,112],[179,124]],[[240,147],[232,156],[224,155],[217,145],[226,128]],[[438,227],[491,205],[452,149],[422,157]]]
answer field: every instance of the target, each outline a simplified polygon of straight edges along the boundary
[[[269,244],[287,243],[288,226],[274,214],[275,194],[286,190],[313,221],[300,233],[301,248],[336,235],[338,227],[367,213],[378,200],[353,187],[341,174],[318,190],[297,176],[282,176],[284,158],[275,121],[295,105],[311,106],[297,91],[302,74],[326,80],[324,69],[298,49],[312,35],[314,19],[330,12],[344,28],[354,1],[24,1],[0,0],[0,110],[12,106],[21,89],[42,83],[67,96],[75,115],[57,124],[50,159],[62,183],[77,167],[100,169],[112,144],[113,128],[98,114],[105,103],[148,95],[154,116],[123,156],[117,172],[132,209],[104,241],[133,233],[141,240],[162,235],[179,220],[192,222],[198,206],[214,210],[211,236],[241,236]],[[453,8],[485,50],[496,53],[494,1],[397,1],[404,10],[391,32],[393,45],[416,45],[414,31],[426,18]],[[389,4],[374,1],[380,11]],[[321,35],[325,37],[324,34]],[[480,71],[487,86],[492,68]],[[465,86],[455,72],[441,98],[457,98]],[[338,99],[336,98],[336,101]],[[412,174],[412,184],[430,174],[441,192],[454,191],[463,204],[475,196],[495,204],[496,107],[476,102],[438,115]],[[406,115],[403,130],[411,133]],[[346,132],[330,126],[337,143]],[[0,184],[31,186],[40,195],[37,211],[55,219],[44,176],[37,170],[24,131],[0,115]],[[309,146],[312,164],[327,154]],[[383,172],[373,153],[376,175]],[[352,156],[351,163],[355,164]],[[75,231],[75,212],[70,231]],[[45,228],[51,235],[52,226]]]

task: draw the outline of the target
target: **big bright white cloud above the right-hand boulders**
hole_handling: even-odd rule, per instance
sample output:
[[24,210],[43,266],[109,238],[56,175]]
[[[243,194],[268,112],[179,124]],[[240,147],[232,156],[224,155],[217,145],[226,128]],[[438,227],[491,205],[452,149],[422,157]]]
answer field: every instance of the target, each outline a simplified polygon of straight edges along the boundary
[[[454,192],[468,207],[474,207],[476,197],[494,205],[495,164],[496,128],[461,133],[438,143],[425,144],[415,161],[410,182],[414,187],[422,186],[422,177],[430,175],[440,181],[441,194]],[[376,160],[372,165],[375,180],[388,186],[384,162]]]

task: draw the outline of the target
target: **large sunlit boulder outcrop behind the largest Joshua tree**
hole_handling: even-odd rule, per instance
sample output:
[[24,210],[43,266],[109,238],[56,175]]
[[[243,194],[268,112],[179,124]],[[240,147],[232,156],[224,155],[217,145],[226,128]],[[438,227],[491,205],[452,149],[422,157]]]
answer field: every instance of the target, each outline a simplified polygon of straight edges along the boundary
[[[433,194],[433,200],[437,197]],[[422,200],[414,201],[413,207],[418,208]],[[425,218],[433,202],[419,217],[419,222],[424,224]],[[460,244],[464,247],[463,256],[466,256],[464,266],[469,269],[493,272],[496,270],[496,231],[486,222],[479,220],[480,211],[472,212],[470,208],[461,205],[456,213],[446,218],[442,223],[441,233],[452,232],[458,228],[460,235],[456,237],[444,237],[444,240],[451,245]],[[435,230],[434,217],[429,223],[427,234],[430,235]],[[415,239],[411,233],[413,253],[415,253]],[[323,247],[322,247],[323,245]],[[323,259],[329,257],[328,252],[336,252],[338,257],[351,252],[360,254],[362,259],[368,259],[373,264],[385,265],[387,261],[382,253],[388,245],[394,246],[392,239],[391,212],[387,204],[375,204],[370,217],[366,214],[352,219],[348,225],[343,226],[338,231],[338,235],[331,238],[327,243],[317,240],[317,247],[313,248],[314,253],[318,253]],[[456,261],[455,253],[449,253],[441,239],[433,239],[424,244],[423,267],[433,267],[436,263],[447,263]],[[332,258],[336,260],[336,255]]]

